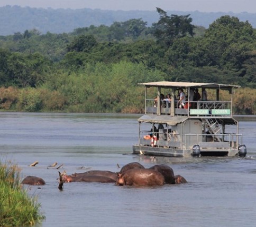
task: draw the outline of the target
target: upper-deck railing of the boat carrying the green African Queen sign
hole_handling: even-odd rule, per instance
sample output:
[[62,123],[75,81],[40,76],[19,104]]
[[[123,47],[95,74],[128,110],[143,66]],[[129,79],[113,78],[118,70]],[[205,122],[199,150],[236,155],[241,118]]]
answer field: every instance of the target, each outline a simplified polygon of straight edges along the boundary
[[[158,103],[154,99],[146,99],[145,114],[157,114]],[[160,114],[171,114],[171,102],[160,101]],[[175,115],[189,116],[231,116],[231,101],[186,101],[181,108],[175,101]]]

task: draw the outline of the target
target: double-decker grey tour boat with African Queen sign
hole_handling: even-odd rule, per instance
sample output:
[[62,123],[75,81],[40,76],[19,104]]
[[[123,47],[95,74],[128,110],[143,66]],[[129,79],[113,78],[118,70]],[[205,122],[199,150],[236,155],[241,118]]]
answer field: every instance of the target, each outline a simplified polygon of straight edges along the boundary
[[[189,156],[245,156],[239,121],[232,111],[237,85],[150,82],[145,86],[145,113],[138,119],[138,144],[133,154]],[[181,105],[178,90],[186,100]],[[201,98],[195,100],[195,91]],[[203,98],[206,91],[208,98]],[[169,94],[169,97],[166,97]],[[211,97],[211,98],[209,98]]]

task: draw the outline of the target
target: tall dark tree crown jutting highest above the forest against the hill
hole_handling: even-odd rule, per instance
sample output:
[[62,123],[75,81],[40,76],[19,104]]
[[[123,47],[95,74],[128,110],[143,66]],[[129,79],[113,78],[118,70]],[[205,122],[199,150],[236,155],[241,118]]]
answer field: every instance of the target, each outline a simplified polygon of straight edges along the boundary
[[155,29],[154,36],[159,43],[164,43],[169,47],[176,38],[194,35],[195,26],[191,24],[192,18],[189,17],[189,14],[168,16],[161,8],[157,8],[157,12],[160,14],[160,19],[153,26]]

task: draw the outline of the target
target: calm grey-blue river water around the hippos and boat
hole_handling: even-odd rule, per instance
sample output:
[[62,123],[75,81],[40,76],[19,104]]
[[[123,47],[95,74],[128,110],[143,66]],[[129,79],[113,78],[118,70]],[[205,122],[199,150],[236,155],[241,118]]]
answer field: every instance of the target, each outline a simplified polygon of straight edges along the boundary
[[[241,121],[248,154],[171,158],[132,155],[139,115],[0,113],[0,156],[46,185],[28,186],[46,216],[39,227],[254,226],[256,222],[256,122]],[[39,163],[30,167],[34,161]],[[55,167],[49,167],[57,162]],[[187,184],[136,188],[65,183],[58,171],[117,172],[129,162],[167,164]],[[59,167],[59,169],[57,169]]]

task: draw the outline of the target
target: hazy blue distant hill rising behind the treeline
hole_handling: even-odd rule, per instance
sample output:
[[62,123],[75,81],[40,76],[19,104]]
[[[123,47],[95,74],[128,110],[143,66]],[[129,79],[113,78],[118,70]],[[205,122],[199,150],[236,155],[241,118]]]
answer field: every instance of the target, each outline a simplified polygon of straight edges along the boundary
[[[164,10],[164,9],[163,9]],[[240,21],[249,21],[256,28],[256,14],[252,13],[203,13],[203,12],[181,12],[167,11],[168,15],[187,15],[193,18],[193,24],[207,28],[209,24],[223,15],[235,16]],[[69,33],[78,27],[89,27],[90,25],[107,25],[113,22],[124,22],[132,18],[142,18],[151,26],[157,22],[159,14],[157,11],[110,11],[101,9],[52,9],[52,8],[30,8],[20,6],[0,7],[0,35],[13,35],[23,33],[26,29],[36,29],[42,34]]]

